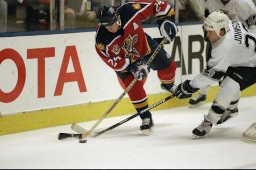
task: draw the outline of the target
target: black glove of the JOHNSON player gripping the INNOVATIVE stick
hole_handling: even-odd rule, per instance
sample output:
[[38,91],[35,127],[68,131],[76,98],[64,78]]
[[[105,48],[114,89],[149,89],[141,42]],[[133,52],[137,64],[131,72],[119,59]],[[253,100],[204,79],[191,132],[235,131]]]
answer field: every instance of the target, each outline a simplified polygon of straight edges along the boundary
[[190,80],[186,80],[185,82],[178,85],[175,90],[175,95],[179,99],[190,98],[193,93],[199,90],[199,88],[193,88],[189,85]]

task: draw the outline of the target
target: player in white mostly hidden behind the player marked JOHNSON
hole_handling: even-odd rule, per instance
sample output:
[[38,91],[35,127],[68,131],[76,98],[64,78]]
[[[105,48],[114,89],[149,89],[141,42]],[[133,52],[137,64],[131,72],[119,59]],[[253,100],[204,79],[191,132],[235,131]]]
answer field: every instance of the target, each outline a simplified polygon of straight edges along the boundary
[[[247,29],[256,31],[256,7],[252,0],[207,0],[205,3],[205,17],[210,13],[220,10],[228,15],[230,20],[240,21]],[[211,43],[205,37],[206,45],[206,62],[211,57]],[[206,100],[206,94],[210,86],[200,88],[198,94],[189,100],[189,108],[202,106]],[[227,110],[225,115],[220,119],[218,124],[225,122],[228,118],[238,114],[235,107],[233,110]]]

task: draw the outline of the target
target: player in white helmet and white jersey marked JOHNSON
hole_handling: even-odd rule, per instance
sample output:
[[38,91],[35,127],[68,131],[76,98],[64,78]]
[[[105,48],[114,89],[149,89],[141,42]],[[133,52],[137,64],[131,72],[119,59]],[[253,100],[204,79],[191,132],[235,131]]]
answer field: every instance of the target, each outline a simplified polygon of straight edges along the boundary
[[240,98],[240,91],[256,83],[256,35],[221,11],[211,13],[204,20],[204,28],[212,43],[212,57],[201,74],[178,85],[175,95],[189,98],[199,88],[223,80],[209,113],[193,130],[193,139],[208,134],[225,110]]

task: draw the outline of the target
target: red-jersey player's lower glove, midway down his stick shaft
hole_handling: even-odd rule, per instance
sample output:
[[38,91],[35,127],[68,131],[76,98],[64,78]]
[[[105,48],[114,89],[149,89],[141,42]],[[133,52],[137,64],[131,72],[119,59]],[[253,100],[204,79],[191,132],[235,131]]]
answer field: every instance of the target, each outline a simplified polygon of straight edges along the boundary
[[134,61],[131,64],[130,71],[134,77],[138,80],[143,80],[145,77],[148,76],[149,70],[146,65],[143,63],[142,60]]

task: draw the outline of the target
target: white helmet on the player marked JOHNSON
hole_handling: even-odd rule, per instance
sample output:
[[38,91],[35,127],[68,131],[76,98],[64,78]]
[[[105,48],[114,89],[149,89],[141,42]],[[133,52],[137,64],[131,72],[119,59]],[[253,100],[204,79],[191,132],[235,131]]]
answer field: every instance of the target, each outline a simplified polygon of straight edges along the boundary
[[215,31],[219,37],[220,30],[225,29],[226,33],[229,30],[229,18],[228,15],[222,11],[214,11],[204,20],[204,28],[207,31]]

